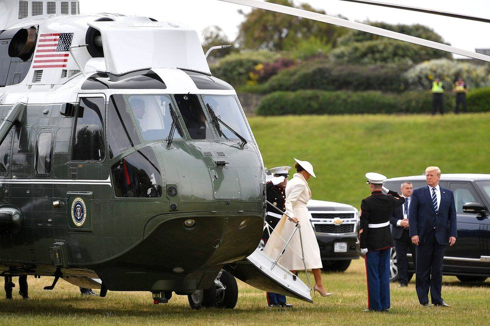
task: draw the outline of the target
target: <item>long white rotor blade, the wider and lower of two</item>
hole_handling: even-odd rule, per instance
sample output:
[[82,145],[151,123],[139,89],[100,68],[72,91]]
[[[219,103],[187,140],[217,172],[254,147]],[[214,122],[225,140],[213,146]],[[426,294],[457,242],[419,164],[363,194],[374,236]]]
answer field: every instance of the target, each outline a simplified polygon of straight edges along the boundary
[[277,5],[273,3],[267,3],[259,0],[219,0],[222,2],[227,2],[227,3],[232,3],[236,5],[243,5],[243,6],[249,6],[253,8],[258,8],[258,9],[264,9],[264,10],[269,10],[273,11],[276,13],[282,13],[286,15],[292,15],[292,16],[298,16],[306,19],[311,19],[317,22],[322,22],[322,23],[328,23],[332,25],[337,25],[341,27],[346,27],[350,29],[354,29],[357,31],[362,31],[366,33],[372,33],[380,36],[385,36],[388,38],[392,38],[395,40],[400,40],[400,41],[405,41],[405,42],[410,42],[413,44],[418,44],[418,45],[423,45],[429,48],[437,49],[437,50],[442,50],[454,54],[459,54],[465,57],[469,58],[474,58],[478,60],[483,60],[490,62],[490,56],[486,56],[484,54],[468,51],[468,50],[463,50],[459,49],[456,47],[452,47],[447,44],[442,44],[434,41],[429,41],[425,39],[421,39],[418,37],[410,36],[410,35],[405,35],[402,33],[397,33],[393,31],[388,31],[379,27],[374,27],[374,26],[369,26],[366,24],[362,23],[357,23],[357,22],[351,22],[345,19],[333,17],[333,16],[328,16],[328,15],[323,15],[323,14],[318,14],[314,12],[310,12],[307,10],[303,9],[298,9],[298,8],[293,8],[293,7],[288,7],[288,6],[283,6],[283,5]]

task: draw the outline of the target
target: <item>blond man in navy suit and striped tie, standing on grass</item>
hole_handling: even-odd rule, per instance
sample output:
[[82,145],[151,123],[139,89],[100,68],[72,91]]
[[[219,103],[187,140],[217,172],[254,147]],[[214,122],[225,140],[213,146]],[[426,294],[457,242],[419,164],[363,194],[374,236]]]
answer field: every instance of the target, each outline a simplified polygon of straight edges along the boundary
[[417,188],[412,194],[408,220],[410,236],[417,246],[415,289],[420,304],[448,306],[441,297],[442,261],[447,244],[456,242],[456,207],[449,189],[439,187],[441,170],[425,170],[427,186]]

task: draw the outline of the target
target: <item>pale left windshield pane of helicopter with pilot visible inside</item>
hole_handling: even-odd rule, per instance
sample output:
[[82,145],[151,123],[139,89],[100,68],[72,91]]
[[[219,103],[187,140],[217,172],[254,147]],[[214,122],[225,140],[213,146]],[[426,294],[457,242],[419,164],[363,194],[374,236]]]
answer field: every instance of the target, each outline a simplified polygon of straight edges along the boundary
[[[127,95],[127,101],[144,140],[162,140],[169,136],[173,118],[170,113],[172,102],[168,96]],[[174,139],[179,138],[182,135],[177,128]]]

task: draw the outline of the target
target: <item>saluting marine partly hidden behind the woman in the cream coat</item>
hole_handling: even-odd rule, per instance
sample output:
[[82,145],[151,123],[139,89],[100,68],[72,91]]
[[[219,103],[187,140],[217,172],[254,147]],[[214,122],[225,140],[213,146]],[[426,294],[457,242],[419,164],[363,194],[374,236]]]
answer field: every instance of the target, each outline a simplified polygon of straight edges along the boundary
[[[267,188],[267,200],[274,204],[275,207],[281,211],[286,211],[286,196],[284,190],[286,189],[287,178],[289,177],[289,170],[291,167],[279,167],[270,169],[274,178],[266,184]],[[266,222],[264,227],[264,233],[262,239],[264,243],[267,243],[269,236],[272,234],[274,228],[281,220],[281,213],[272,205],[267,204]],[[270,307],[293,307],[292,304],[286,302],[286,296],[278,293],[267,292],[267,304]]]

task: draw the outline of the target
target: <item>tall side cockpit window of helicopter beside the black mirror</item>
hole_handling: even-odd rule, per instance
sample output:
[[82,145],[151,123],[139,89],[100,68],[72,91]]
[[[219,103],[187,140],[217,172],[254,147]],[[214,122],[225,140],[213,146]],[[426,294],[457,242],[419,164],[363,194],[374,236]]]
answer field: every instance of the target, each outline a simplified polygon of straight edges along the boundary
[[82,97],[75,120],[73,160],[103,160],[105,157],[103,97]]

